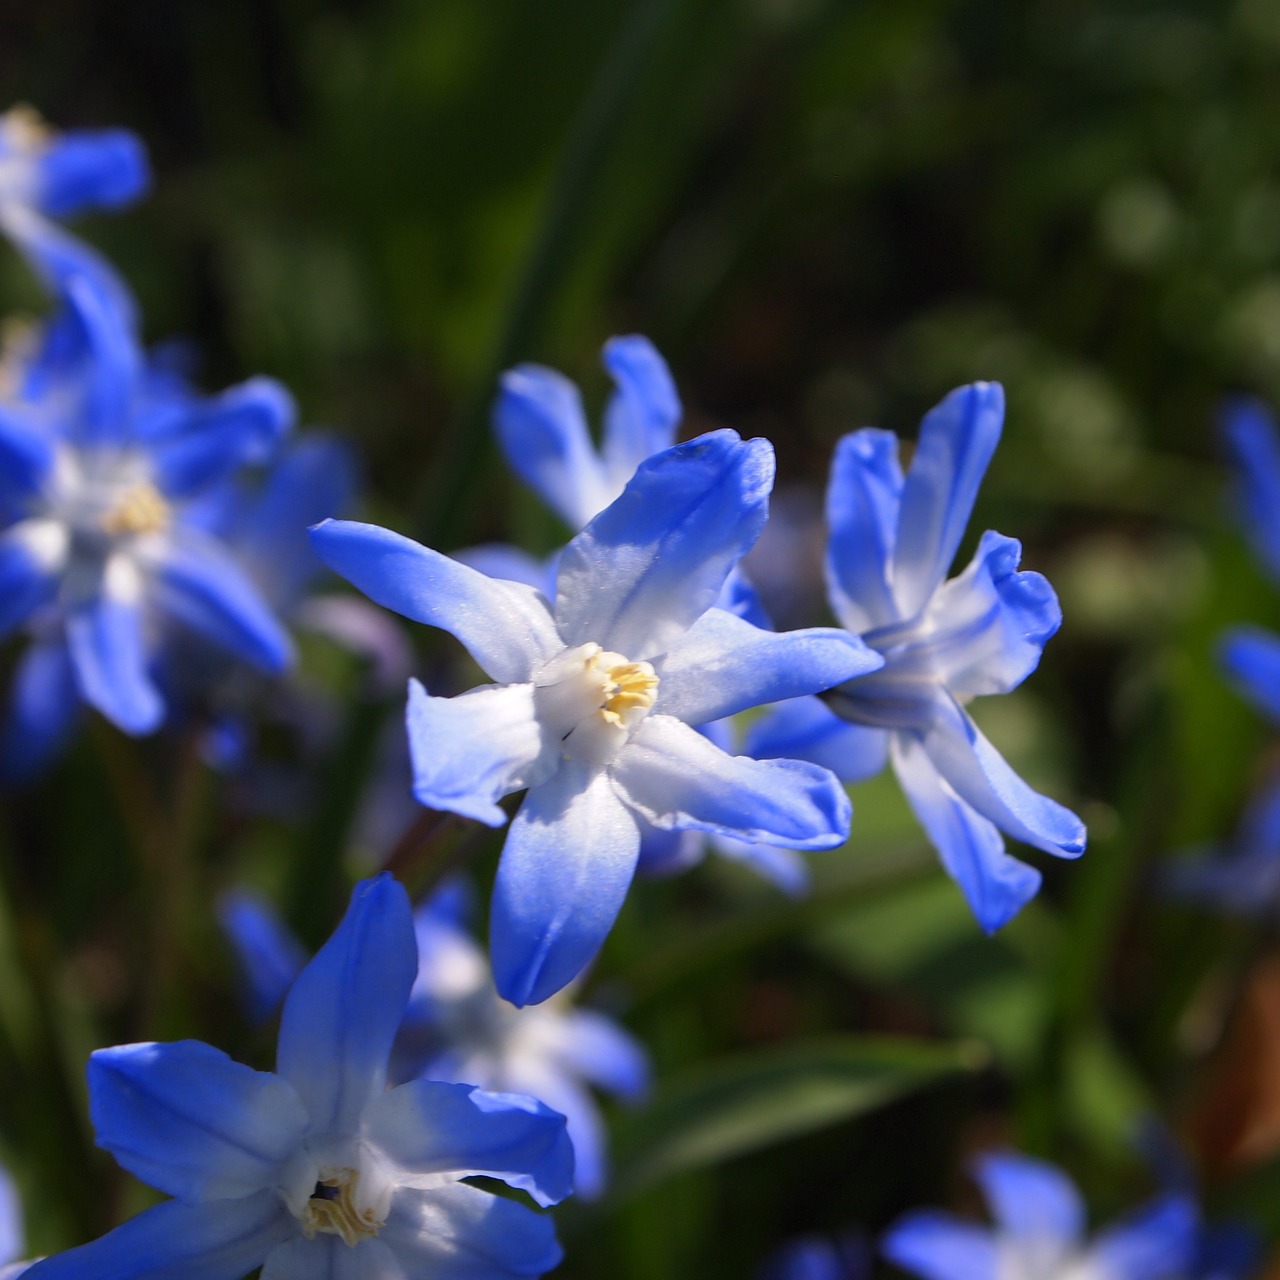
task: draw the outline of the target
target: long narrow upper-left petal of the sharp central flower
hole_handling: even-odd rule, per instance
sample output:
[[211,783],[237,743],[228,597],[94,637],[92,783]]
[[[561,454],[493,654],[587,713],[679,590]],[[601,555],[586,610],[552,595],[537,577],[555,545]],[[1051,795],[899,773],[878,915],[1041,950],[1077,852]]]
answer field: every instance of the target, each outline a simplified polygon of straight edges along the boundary
[[387,609],[458,639],[500,684],[529,680],[563,648],[543,596],[376,525],[325,520],[311,530],[316,554]]

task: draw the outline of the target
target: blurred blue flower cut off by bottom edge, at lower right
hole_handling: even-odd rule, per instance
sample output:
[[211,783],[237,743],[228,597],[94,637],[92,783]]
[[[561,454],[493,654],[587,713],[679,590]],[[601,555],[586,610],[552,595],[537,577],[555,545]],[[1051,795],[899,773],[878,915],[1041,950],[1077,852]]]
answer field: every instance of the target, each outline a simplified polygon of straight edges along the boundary
[[884,1236],[884,1257],[924,1280],[1171,1280],[1194,1257],[1189,1196],[1158,1197],[1087,1240],[1079,1192],[1052,1165],[991,1153],[974,1176],[995,1228],[932,1210],[908,1213]]

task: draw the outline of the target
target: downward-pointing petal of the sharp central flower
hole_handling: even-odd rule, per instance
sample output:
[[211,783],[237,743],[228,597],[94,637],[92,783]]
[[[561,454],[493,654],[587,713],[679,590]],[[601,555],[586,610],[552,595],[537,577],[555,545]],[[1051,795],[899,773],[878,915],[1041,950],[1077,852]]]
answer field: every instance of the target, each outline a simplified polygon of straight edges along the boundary
[[581,973],[613,927],[639,849],[607,772],[566,762],[530,790],[493,891],[489,938],[504,1000],[540,1004]]

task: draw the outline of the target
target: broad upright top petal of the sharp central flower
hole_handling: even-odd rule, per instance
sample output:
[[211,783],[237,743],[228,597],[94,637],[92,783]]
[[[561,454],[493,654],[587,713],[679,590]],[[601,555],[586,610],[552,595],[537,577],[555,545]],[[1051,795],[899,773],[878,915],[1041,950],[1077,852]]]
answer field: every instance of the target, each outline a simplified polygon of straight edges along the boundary
[[570,645],[640,660],[714,603],[764,527],[773,447],[712,431],[649,458],[561,557],[556,620]]

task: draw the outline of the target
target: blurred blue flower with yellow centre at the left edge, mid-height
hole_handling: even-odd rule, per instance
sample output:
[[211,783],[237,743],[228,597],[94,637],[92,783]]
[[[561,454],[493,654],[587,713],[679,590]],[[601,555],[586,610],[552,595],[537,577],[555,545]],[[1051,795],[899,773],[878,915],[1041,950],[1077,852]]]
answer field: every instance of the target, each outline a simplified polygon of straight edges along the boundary
[[0,397],[0,634],[27,628],[0,764],[29,776],[81,703],[129,733],[165,716],[152,663],[177,622],[266,672],[288,634],[207,511],[275,449],[288,393],[259,378],[214,398],[161,392],[132,326],[86,276],[8,370]]

